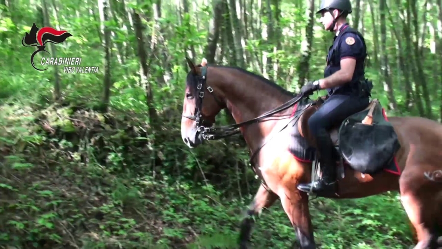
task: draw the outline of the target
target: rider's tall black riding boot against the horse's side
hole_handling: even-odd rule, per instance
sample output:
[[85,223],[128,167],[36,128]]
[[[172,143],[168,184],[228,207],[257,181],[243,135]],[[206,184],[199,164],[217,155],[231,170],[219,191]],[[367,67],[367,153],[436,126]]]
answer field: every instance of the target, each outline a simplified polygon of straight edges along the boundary
[[[316,138],[322,176],[312,183],[298,185],[298,190],[313,193],[335,193],[336,186],[336,153],[333,141],[327,132],[320,133]],[[312,189],[312,190],[310,190]]]

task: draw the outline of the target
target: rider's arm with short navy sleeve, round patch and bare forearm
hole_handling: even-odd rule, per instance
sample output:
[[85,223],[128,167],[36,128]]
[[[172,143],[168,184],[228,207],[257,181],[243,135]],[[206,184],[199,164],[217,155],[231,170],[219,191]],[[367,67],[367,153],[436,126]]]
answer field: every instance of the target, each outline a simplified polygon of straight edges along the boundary
[[363,43],[354,33],[345,33],[340,44],[340,69],[325,79],[319,80],[321,89],[348,83],[353,78],[356,58],[362,56]]

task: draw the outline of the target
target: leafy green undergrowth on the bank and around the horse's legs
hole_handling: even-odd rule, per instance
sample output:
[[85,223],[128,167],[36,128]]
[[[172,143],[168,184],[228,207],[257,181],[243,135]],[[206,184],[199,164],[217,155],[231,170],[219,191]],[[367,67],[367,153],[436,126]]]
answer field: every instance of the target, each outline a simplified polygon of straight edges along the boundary
[[[176,125],[154,136],[140,115],[74,106],[3,105],[0,122],[2,247],[237,248],[239,222],[259,186],[238,164],[247,159],[241,141],[188,151]],[[396,193],[317,198],[310,206],[322,249],[411,245]],[[257,220],[251,248],[294,241],[276,202]]]

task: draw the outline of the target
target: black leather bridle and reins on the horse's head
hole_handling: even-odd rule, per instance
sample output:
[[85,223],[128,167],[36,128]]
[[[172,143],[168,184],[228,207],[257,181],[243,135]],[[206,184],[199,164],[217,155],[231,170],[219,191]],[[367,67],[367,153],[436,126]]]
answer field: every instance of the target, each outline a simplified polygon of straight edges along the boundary
[[[199,66],[201,66],[201,65],[199,65]],[[267,111],[264,114],[260,115],[259,117],[250,119],[245,122],[237,123],[234,125],[220,126],[220,127],[216,127],[216,128],[215,127],[205,127],[205,126],[203,126],[203,124],[208,121],[204,119],[203,114],[202,114],[203,99],[205,97],[204,89],[206,88],[208,90],[208,92],[212,94],[212,96],[215,98],[215,101],[218,103],[218,105],[220,105],[220,106],[223,106],[223,105],[221,104],[221,101],[219,101],[219,99],[216,97],[216,95],[213,94],[213,88],[207,85],[207,66],[201,66],[201,76],[196,75],[196,77],[198,77],[198,84],[196,87],[196,92],[198,94],[195,95],[196,99],[195,99],[194,114],[193,114],[193,116],[182,114],[182,116],[189,118],[191,120],[194,120],[195,127],[197,128],[197,131],[200,132],[202,137],[206,140],[218,140],[218,139],[222,139],[222,138],[226,138],[226,137],[230,137],[235,134],[238,134],[238,133],[240,133],[240,130],[239,130],[240,127],[259,122],[260,120],[262,120],[266,117],[269,117],[275,113],[278,113],[280,111],[284,111],[287,108],[298,103],[304,97],[303,95],[298,95],[298,96],[292,98],[291,100],[287,101],[283,105],[281,105],[273,110]],[[225,108],[223,108],[223,109],[225,109]]]

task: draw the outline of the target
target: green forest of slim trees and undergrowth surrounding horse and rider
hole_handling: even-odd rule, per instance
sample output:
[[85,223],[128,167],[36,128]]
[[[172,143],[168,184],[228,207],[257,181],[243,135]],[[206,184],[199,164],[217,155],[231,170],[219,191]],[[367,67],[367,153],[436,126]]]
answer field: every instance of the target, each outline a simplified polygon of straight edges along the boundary
[[[260,181],[241,136],[183,143],[185,57],[299,92],[323,77],[333,43],[319,2],[0,0],[0,248],[238,248]],[[352,6],[372,97],[388,116],[441,122],[442,0]],[[42,48],[21,44],[33,26],[71,34],[45,44],[33,58],[38,70],[30,57]],[[79,59],[42,65],[48,56]],[[222,112],[216,122],[234,121]],[[397,192],[319,197],[310,210],[321,249],[415,245]],[[250,243],[296,243],[280,202],[262,212]]]

